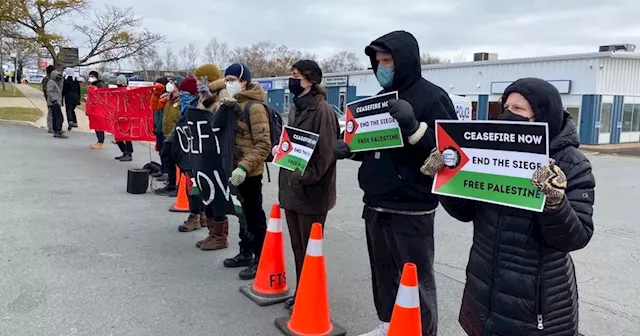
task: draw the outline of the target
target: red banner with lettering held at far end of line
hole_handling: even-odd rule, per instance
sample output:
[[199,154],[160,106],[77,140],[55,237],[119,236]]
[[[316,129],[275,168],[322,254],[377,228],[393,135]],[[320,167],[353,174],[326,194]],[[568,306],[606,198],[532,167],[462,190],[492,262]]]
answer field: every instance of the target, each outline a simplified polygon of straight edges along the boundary
[[90,86],[86,106],[89,128],[109,132],[116,141],[156,141],[151,90]]

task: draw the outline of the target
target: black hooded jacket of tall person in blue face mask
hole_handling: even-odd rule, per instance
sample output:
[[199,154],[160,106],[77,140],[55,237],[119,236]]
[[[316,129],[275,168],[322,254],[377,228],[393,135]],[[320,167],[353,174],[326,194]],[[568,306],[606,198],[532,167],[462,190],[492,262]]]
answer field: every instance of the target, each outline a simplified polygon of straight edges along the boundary
[[[438,206],[437,197],[431,193],[433,179],[421,174],[420,167],[435,147],[434,120],[457,119],[453,103],[442,88],[422,78],[420,50],[413,35],[394,31],[371,45],[388,50],[393,56],[393,85],[382,92],[397,90],[399,98],[411,104],[416,119],[426,123],[428,130],[415,145],[405,138],[402,148],[364,152],[354,157],[362,161],[358,181],[364,191],[364,203],[392,210],[433,210]],[[377,72],[375,51],[368,47],[365,52]]]

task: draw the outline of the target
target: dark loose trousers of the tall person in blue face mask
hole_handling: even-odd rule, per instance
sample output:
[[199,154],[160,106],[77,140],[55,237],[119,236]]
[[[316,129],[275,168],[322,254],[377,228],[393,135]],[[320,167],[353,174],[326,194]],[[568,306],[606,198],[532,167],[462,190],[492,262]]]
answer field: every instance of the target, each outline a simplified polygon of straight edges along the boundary
[[407,262],[418,268],[422,335],[438,332],[438,301],[433,274],[433,222],[435,213],[403,215],[378,212],[365,205],[362,217],[367,231],[373,301],[382,322],[390,322]]

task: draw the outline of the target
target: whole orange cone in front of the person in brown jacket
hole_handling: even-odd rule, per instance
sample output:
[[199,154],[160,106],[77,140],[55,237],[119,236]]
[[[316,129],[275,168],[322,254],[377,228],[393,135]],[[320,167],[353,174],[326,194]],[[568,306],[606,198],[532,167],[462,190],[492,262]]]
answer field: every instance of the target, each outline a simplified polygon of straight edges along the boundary
[[327,271],[322,252],[322,225],[314,223],[302,265],[296,303],[291,318],[276,319],[285,335],[344,336],[347,332],[330,320]]

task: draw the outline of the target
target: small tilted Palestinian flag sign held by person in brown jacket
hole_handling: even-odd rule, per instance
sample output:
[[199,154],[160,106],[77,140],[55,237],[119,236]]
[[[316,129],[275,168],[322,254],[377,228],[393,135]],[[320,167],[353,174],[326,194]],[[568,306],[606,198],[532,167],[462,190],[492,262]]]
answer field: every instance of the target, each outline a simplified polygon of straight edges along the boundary
[[317,143],[318,134],[284,126],[273,163],[291,171],[299,170],[303,175]]

